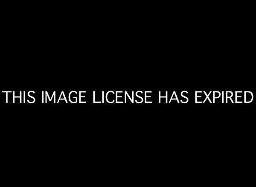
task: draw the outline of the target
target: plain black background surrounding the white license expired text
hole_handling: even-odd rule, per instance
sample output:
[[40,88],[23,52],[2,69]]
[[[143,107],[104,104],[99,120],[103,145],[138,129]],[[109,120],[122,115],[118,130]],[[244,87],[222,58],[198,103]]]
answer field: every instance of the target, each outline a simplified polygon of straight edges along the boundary
[[[3,13],[1,91],[152,90],[154,104],[2,102],[5,176],[131,184],[250,178],[255,101],[196,105],[193,96],[255,94],[247,7],[42,7]],[[183,90],[187,105],[157,104],[157,91]]]

